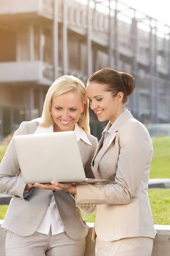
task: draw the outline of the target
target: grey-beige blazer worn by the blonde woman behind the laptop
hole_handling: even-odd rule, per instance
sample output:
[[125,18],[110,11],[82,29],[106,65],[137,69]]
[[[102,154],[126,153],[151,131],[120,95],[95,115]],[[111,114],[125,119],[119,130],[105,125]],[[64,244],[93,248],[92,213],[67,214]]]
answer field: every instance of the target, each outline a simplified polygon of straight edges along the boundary
[[[22,134],[33,134],[39,123],[32,120],[23,122],[14,136]],[[86,177],[93,178],[91,172],[91,161],[97,147],[97,139],[86,133],[92,145],[79,140],[79,150]],[[26,184],[20,174],[17,177],[20,166],[17,160],[14,142],[8,145],[5,156],[0,163],[0,194],[11,195],[12,199],[3,221],[3,227],[19,236],[30,236],[39,227],[45,211],[54,195],[59,216],[62,224],[71,239],[83,239],[88,233],[88,226],[82,219],[79,208],[76,207],[74,199],[67,192],[44,190],[33,188],[30,193],[24,194]],[[94,207],[85,207],[86,213],[91,213]]]

